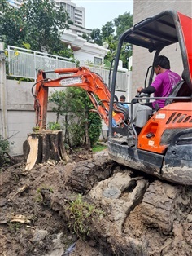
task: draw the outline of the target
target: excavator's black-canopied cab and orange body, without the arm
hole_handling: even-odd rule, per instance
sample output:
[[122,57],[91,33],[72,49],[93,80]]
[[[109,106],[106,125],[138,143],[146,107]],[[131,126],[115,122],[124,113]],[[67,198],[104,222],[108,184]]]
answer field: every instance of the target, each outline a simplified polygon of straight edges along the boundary
[[[178,42],[181,50],[183,74],[166,104],[155,113],[146,109],[146,122],[139,131],[135,126],[134,109],[139,100],[155,97],[135,97],[131,102],[127,134],[114,137],[111,126],[112,99],[116,90],[116,72],[123,43],[146,48],[154,60],[167,46]],[[149,68],[150,69],[150,68]],[[148,72],[148,71],[147,71]],[[154,71],[148,85],[151,84]],[[141,109],[139,109],[141,114]],[[143,112],[144,113],[144,112]],[[137,116],[137,115],[136,115]],[[142,118],[140,115],[138,118]],[[140,120],[139,120],[140,121]],[[136,121],[137,122],[137,121]],[[111,82],[108,152],[112,160],[142,170],[173,183],[192,185],[192,19],[177,11],[163,11],[135,24],[120,37]]]

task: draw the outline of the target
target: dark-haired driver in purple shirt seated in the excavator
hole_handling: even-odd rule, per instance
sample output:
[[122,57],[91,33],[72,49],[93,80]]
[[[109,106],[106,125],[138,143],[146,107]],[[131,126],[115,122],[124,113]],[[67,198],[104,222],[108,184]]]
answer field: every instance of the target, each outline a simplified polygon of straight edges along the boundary
[[[170,62],[164,55],[159,55],[154,60],[153,68],[156,74],[154,82],[145,89],[138,87],[137,92],[144,92],[147,94],[153,93],[154,97],[168,97],[177,82],[181,81],[181,77],[170,70]],[[155,101],[146,103],[145,105],[148,105],[154,110],[158,110],[159,108],[163,108],[164,104],[165,99],[156,99]]]

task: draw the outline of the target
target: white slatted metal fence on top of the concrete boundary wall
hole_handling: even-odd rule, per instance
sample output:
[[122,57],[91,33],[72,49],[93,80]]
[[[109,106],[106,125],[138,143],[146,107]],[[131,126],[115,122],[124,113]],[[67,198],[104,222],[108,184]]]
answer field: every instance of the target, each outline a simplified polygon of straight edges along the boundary
[[[8,46],[8,71],[7,75],[11,77],[37,78],[37,71],[55,70],[57,68],[73,68],[76,67],[76,61],[68,58],[63,58],[57,55],[50,55],[39,51],[31,51],[20,47]],[[98,73],[103,77],[104,82],[109,84],[109,68],[102,66],[86,64],[92,72]],[[51,73],[49,77],[54,79],[58,74]],[[112,72],[111,72],[112,77]],[[116,78],[116,90],[126,91],[128,88],[129,73],[119,71]]]

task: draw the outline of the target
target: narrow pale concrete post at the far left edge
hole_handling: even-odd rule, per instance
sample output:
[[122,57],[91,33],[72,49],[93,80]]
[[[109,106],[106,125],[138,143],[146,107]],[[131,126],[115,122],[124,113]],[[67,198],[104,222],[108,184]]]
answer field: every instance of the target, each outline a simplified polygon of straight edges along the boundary
[[2,113],[2,139],[7,139],[7,88],[6,88],[6,55],[3,43],[0,42],[0,109]]

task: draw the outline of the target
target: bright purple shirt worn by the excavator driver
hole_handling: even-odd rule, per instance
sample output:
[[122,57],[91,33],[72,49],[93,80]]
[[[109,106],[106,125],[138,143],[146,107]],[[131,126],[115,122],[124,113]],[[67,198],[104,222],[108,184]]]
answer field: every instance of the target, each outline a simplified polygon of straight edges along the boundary
[[[181,77],[171,70],[166,70],[164,73],[159,73],[154,82],[151,83],[151,86],[155,87],[154,97],[168,97],[173,87],[177,84],[177,82],[181,81]],[[153,104],[153,108],[155,108],[156,104],[159,104],[159,108],[163,108],[165,103],[165,99],[157,99]]]

